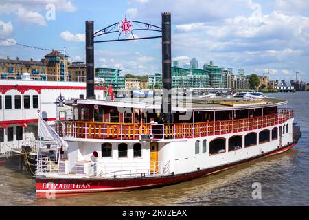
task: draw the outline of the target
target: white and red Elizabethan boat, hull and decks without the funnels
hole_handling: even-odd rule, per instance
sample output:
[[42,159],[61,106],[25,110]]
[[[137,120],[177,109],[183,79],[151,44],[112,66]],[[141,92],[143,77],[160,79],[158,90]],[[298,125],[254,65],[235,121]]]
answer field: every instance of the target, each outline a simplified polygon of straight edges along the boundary
[[286,104],[197,98],[185,107],[173,100],[174,122],[162,123],[150,113],[160,104],[149,100],[73,100],[71,120],[56,125],[68,148],[58,161],[38,160],[37,196],[165,186],[283,153],[299,138]]

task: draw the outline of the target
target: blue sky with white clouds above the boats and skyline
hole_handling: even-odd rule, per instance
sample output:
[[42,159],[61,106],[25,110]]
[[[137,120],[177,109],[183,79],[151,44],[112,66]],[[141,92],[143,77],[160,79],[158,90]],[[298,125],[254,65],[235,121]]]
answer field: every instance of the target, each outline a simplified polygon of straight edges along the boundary
[[[269,72],[273,79],[286,80],[298,71],[301,80],[309,81],[308,0],[1,0],[0,38],[66,47],[73,61],[84,61],[84,21],[95,21],[100,30],[126,14],[161,25],[161,12],[172,12],[172,58],[181,65],[195,57],[201,67],[212,60],[234,72]],[[117,34],[108,37],[117,39]],[[1,58],[39,60],[45,54],[0,41]],[[95,65],[123,74],[161,72],[161,40],[95,44]]]

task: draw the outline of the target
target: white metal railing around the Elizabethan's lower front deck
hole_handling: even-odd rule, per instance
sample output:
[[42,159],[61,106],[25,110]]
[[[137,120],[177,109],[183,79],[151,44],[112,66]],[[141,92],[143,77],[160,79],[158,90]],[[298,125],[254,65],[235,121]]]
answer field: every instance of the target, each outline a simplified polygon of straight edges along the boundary
[[38,159],[37,173],[56,175],[102,177],[102,178],[139,178],[170,174],[170,162],[54,162],[45,157]]

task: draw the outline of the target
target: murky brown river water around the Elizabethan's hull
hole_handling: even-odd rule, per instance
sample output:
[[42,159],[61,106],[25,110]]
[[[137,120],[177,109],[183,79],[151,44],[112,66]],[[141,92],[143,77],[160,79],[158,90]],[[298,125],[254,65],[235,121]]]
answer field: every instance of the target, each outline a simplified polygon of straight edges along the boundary
[[[309,92],[266,94],[295,109],[303,136],[292,150],[174,186],[131,192],[40,199],[34,180],[0,166],[0,206],[308,206]],[[261,199],[253,199],[253,183]]]

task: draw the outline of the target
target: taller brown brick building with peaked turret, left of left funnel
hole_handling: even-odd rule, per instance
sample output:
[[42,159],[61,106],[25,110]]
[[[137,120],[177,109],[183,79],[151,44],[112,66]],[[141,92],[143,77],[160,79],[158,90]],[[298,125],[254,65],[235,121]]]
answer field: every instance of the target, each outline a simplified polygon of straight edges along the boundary
[[51,53],[44,56],[47,80],[49,81],[67,81],[67,62],[68,56],[60,54],[58,50],[52,50]]

